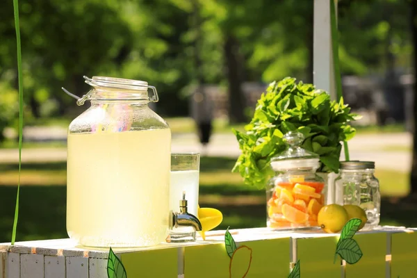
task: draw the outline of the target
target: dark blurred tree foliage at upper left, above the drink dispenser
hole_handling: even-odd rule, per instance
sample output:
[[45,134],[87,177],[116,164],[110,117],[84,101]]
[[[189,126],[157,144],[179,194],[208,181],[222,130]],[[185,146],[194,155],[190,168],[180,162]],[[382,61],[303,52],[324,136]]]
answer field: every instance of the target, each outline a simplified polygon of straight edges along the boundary
[[[70,97],[60,91],[62,85],[81,94],[85,91],[84,74],[103,72],[126,58],[132,35],[115,3],[19,1],[24,95],[35,117],[40,116],[40,103],[50,97],[58,101],[62,115],[71,103]],[[3,2],[0,17],[1,76],[16,68],[12,1]]]

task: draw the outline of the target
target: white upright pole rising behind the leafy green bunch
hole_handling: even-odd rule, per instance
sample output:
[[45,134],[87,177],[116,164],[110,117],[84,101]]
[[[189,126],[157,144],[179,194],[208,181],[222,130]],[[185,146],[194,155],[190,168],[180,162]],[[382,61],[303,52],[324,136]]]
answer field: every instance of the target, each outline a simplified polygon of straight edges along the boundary
[[[313,21],[313,83],[336,99],[334,83],[330,1],[314,0]],[[337,10],[337,0],[336,10]],[[337,17],[336,17],[337,18]]]

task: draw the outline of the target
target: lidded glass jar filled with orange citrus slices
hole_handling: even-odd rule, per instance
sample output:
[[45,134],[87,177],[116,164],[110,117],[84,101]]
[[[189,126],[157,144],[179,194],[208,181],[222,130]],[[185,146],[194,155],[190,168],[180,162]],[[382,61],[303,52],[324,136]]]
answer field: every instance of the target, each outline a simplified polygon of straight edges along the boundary
[[276,175],[267,186],[267,227],[271,229],[318,228],[317,215],[325,206],[325,181],[316,174],[317,154],[301,147],[302,133],[284,135],[288,148],[271,158]]

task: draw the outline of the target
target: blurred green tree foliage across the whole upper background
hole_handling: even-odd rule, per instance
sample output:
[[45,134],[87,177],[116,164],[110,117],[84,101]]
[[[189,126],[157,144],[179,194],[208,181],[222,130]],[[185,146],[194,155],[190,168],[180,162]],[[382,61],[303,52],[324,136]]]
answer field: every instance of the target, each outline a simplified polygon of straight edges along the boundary
[[[181,93],[193,83],[224,85],[232,122],[246,120],[243,81],[312,81],[311,0],[20,2],[25,101],[35,116],[49,99],[58,101],[59,114],[74,108],[59,88],[81,95],[84,74],[156,85],[163,115],[188,115]],[[409,67],[404,1],[341,0],[339,13],[343,74]],[[16,86],[11,1],[2,3],[0,18],[0,81],[14,76]]]

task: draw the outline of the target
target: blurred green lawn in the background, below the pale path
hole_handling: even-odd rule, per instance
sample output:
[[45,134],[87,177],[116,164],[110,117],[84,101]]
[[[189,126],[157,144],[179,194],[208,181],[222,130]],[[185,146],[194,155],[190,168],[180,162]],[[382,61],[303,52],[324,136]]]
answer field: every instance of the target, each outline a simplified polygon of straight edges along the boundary
[[[231,173],[235,160],[202,157],[199,201],[201,206],[218,208],[224,221],[218,229],[265,226],[265,191],[243,185]],[[65,238],[66,163],[22,165],[22,188],[17,240]],[[389,197],[408,193],[408,174],[377,170],[381,183],[382,224],[417,227],[417,207],[391,204]],[[0,165],[0,242],[10,240],[13,224],[17,164]]]

